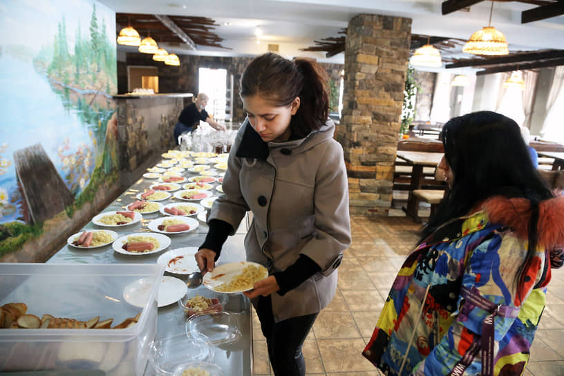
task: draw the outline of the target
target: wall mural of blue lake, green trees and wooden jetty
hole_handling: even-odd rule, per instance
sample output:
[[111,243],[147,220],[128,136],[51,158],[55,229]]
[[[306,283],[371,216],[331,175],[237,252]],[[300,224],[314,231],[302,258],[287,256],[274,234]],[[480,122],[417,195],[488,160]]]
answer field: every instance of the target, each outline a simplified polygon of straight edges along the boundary
[[46,218],[32,196],[59,192],[34,178],[62,181],[77,207],[117,176],[115,51],[115,12],[97,1],[0,3],[0,236]]

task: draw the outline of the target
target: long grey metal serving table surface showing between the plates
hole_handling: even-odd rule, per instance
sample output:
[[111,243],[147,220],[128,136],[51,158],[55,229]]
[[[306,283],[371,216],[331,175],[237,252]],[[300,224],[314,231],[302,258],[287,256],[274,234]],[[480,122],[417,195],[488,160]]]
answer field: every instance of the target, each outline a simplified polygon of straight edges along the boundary
[[[213,167],[212,167],[213,168]],[[224,171],[218,170],[219,176],[223,176]],[[187,170],[181,173],[182,176],[189,178],[190,176],[198,176],[198,173],[190,173]],[[140,178],[129,189],[124,191],[111,205],[106,207],[102,212],[109,212],[113,210],[126,210],[126,205],[134,203],[135,196],[142,193],[144,189],[149,189],[150,185],[157,182],[156,179]],[[163,183],[164,184],[164,183]],[[185,184],[185,183],[184,183]],[[216,186],[210,190],[214,195],[217,195]],[[178,203],[180,200],[171,198],[160,201],[166,205],[167,203]],[[189,204],[190,202],[186,202]],[[122,227],[100,227],[89,222],[83,230],[89,229],[111,229],[118,233],[118,237],[131,233],[144,233],[150,230],[147,223],[155,218],[163,216],[160,212],[154,214],[143,214],[140,223],[133,225],[126,225]],[[196,217],[191,217],[196,218]],[[156,254],[135,255],[129,256],[114,252],[111,244],[93,250],[80,250],[69,245],[65,245],[57,254],[55,254],[47,263],[156,263],[158,257],[169,250],[180,247],[198,247],[207,234],[207,225],[198,220],[199,225],[193,232],[184,234],[170,234],[171,245],[167,249],[162,250]],[[243,247],[243,239],[248,228],[247,220],[243,220],[241,226],[237,229],[234,236],[229,236],[223,250],[221,252],[220,263],[231,263],[235,261],[245,260],[245,249]],[[187,276],[178,274],[169,274],[164,272],[165,275],[174,276],[183,281],[187,281]],[[198,289],[205,289],[200,286]],[[197,290],[193,290],[197,292]],[[229,294],[227,302],[225,303],[225,310],[227,312],[236,313],[238,321],[238,329],[241,331],[241,338],[231,344],[221,344],[214,348],[213,363],[217,364],[225,371],[226,375],[234,376],[250,376],[252,375],[252,319],[250,312],[250,301],[243,294]],[[185,316],[182,309],[175,302],[169,306],[158,308],[158,323],[157,333],[155,340],[164,339],[173,335],[178,335],[185,332]],[[145,375],[152,375],[149,369],[149,362],[145,370]]]

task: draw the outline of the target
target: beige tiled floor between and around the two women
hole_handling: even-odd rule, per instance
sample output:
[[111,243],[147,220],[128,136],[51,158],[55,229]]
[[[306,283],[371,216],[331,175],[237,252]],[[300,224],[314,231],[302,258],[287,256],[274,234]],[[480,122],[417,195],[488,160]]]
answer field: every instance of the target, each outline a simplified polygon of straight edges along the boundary
[[[351,218],[353,244],[339,267],[335,299],[323,310],[303,346],[306,375],[383,375],[361,356],[404,256],[420,225],[404,216]],[[564,375],[564,271],[553,271],[547,308],[531,350],[527,376]],[[254,375],[274,375],[266,341],[253,317]]]

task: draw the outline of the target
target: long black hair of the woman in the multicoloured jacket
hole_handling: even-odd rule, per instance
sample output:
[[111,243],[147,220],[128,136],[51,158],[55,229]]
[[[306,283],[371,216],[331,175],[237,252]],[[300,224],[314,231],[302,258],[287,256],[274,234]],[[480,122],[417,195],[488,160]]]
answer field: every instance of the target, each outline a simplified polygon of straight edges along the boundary
[[552,198],[552,193],[533,166],[519,126],[499,113],[478,111],[446,122],[441,138],[454,180],[422,230],[421,241],[446,221],[470,214],[491,196],[527,198],[531,203],[529,245],[519,269],[517,281],[521,282],[536,252],[538,202]]

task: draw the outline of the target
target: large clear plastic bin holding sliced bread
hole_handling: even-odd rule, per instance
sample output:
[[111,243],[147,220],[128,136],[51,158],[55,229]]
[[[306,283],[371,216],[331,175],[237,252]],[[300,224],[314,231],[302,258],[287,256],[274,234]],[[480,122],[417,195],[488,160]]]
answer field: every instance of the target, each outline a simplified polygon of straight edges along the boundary
[[[112,329],[0,329],[0,372],[102,370],[108,376],[143,375],[157,329],[158,264],[0,263],[0,306],[26,303],[26,313],[88,321],[113,319]],[[124,288],[152,280],[142,308]],[[138,321],[114,329],[140,314]]]

